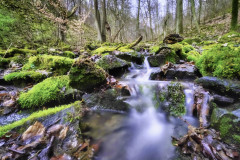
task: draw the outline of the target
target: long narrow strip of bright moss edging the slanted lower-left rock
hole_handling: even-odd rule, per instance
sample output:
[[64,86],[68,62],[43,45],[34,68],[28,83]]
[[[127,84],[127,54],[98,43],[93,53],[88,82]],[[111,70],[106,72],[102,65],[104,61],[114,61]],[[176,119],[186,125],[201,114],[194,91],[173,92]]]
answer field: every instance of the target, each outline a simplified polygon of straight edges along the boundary
[[58,106],[58,107],[55,107],[55,108],[49,108],[49,109],[46,109],[46,110],[41,110],[41,111],[32,113],[27,118],[23,118],[19,121],[13,122],[13,123],[5,125],[5,126],[0,126],[0,137],[5,135],[10,130],[12,130],[16,127],[22,126],[29,121],[33,121],[33,120],[36,120],[36,119],[41,118],[41,117],[46,117],[48,115],[55,114],[57,112],[60,112],[61,110],[70,108],[71,106],[74,106],[74,105],[81,105],[81,104],[80,104],[79,101],[77,101],[77,102],[72,103],[72,104],[62,105],[62,106]]

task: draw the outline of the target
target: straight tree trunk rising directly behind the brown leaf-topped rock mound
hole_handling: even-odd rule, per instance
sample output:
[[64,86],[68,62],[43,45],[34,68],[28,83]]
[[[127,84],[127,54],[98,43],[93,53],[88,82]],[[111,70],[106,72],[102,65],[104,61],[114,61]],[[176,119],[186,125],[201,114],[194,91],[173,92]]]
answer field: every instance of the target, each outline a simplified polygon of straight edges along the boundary
[[176,33],[183,33],[183,0],[177,0]]

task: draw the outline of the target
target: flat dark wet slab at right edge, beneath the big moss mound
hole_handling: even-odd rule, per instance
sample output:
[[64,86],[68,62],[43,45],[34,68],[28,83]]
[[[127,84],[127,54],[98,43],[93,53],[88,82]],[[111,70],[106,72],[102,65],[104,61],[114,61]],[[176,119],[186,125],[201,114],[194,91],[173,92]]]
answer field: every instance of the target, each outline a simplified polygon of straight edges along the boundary
[[211,92],[218,93],[223,96],[230,96],[238,99],[240,97],[240,82],[219,79],[216,77],[202,77],[195,81],[203,86],[205,89],[209,89]]

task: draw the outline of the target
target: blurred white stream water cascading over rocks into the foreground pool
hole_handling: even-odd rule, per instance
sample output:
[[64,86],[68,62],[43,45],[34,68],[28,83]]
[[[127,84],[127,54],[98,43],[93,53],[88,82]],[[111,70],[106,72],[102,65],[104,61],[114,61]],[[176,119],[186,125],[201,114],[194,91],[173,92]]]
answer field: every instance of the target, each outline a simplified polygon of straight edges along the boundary
[[[145,59],[142,67],[136,68],[132,64],[129,73],[120,80],[121,84],[128,85],[130,89],[131,96],[126,102],[130,104],[132,110],[128,115],[115,119],[112,126],[108,123],[101,125],[100,128],[107,130],[108,134],[98,137],[102,145],[95,157],[96,160],[168,160],[176,159],[178,156],[171,137],[179,138],[185,135],[187,125],[179,118],[169,116],[156,107],[155,93],[171,81],[149,80],[151,72],[155,69],[157,68],[151,68]],[[191,82],[181,84],[184,86],[187,111],[183,119],[199,127],[198,118],[192,114],[195,85]],[[208,107],[208,99],[205,97],[203,110]],[[113,126],[114,129],[107,129]],[[100,133],[99,130],[96,132]]]

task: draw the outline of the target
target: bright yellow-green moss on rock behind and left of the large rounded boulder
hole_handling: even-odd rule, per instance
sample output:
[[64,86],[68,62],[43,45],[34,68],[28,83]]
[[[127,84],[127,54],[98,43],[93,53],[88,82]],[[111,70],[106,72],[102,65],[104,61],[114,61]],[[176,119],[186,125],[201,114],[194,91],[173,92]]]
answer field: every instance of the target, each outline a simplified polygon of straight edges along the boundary
[[23,70],[48,70],[53,71],[55,75],[66,74],[74,60],[61,56],[39,55],[30,57],[28,63],[23,66]]

